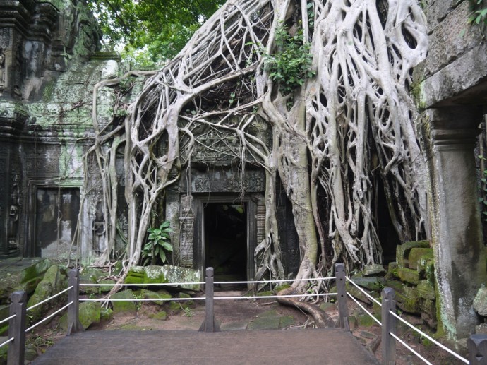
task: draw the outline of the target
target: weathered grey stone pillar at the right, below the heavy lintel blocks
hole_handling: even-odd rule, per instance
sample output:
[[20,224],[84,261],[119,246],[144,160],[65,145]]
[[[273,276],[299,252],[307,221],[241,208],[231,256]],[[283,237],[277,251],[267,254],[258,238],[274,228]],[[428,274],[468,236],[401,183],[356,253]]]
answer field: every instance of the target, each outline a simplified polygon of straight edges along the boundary
[[433,138],[428,165],[438,319],[457,340],[473,333],[478,318],[472,303],[487,282],[474,155],[483,113],[468,106],[426,114]]

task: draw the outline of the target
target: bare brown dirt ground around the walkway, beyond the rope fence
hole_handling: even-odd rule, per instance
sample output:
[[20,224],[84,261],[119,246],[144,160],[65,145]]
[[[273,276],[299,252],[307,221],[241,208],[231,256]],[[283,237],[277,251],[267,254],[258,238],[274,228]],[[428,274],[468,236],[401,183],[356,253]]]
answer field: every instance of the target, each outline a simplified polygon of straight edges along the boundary
[[[244,292],[220,292],[219,296],[238,296]],[[181,302],[184,304],[184,302]],[[151,304],[150,302],[141,302],[140,309],[136,315],[116,315],[111,321],[92,325],[88,330],[198,330],[203,318],[205,316],[205,306],[203,301],[195,301],[189,306],[189,309],[184,310],[183,305],[179,309],[168,311],[167,319],[160,320],[151,318],[155,313],[160,312],[161,306]],[[167,310],[167,308],[166,308]],[[349,302],[349,313],[351,316],[356,316],[361,309]],[[329,306],[326,309],[327,314],[336,321],[338,318],[337,306]],[[289,306],[282,306],[272,299],[227,299],[215,300],[215,317],[220,323],[222,330],[244,330],[251,328],[251,323],[257,321],[259,316],[263,313],[274,313],[277,316],[292,316],[294,323],[289,324],[281,329],[287,330],[289,328],[303,329],[313,328],[313,321],[310,316],[299,309],[291,308]],[[265,314],[264,314],[265,316]],[[403,315],[404,316],[404,315]],[[421,320],[415,317],[406,318],[414,325],[421,325]],[[424,328],[421,328],[424,330]],[[361,345],[367,347],[375,354],[375,357],[381,361],[380,350],[380,327],[374,325],[356,325],[356,321],[351,319],[351,330],[354,336],[359,340]],[[398,326],[399,337],[403,338],[412,348],[419,354],[425,357],[431,364],[462,364],[452,355],[444,350],[439,349],[436,345],[424,340],[421,336],[416,335],[413,331],[405,328],[405,326]],[[64,337],[64,333],[59,330],[56,321],[45,325],[34,333],[29,335],[28,343],[34,344],[37,347],[37,352],[42,353],[53,345],[56,340]],[[424,362],[412,354],[408,349],[400,344],[397,348],[397,365],[415,365],[424,364]],[[462,356],[467,357],[465,351],[461,351]]]

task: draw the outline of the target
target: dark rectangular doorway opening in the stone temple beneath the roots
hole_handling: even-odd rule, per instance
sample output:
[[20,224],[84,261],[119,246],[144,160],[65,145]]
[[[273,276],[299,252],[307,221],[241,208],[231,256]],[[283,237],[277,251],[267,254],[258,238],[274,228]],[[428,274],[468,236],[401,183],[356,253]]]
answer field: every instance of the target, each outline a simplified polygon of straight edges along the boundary
[[[247,280],[246,204],[208,203],[205,217],[205,267],[215,270],[215,282]],[[215,285],[241,289],[246,285]]]

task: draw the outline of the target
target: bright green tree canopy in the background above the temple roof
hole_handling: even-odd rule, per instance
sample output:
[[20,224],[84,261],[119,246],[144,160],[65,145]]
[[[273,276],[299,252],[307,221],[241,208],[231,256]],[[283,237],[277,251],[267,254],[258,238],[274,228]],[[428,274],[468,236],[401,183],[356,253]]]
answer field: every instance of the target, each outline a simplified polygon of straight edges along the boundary
[[172,59],[224,0],[88,0],[104,44],[142,68]]

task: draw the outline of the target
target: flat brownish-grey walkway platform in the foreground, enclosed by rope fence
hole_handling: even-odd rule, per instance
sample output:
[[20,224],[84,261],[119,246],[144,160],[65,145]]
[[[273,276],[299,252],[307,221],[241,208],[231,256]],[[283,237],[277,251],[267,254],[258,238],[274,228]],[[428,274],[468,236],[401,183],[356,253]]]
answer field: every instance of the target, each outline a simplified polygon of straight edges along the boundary
[[35,365],[333,364],[378,365],[344,330],[197,331],[88,330],[67,336]]

